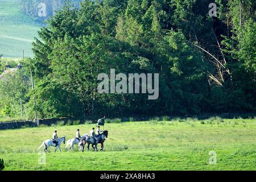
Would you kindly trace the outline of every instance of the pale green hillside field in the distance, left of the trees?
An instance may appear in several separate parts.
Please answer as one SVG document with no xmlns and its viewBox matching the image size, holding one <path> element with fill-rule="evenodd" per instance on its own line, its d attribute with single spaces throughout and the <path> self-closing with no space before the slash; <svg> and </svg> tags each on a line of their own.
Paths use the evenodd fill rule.
<svg viewBox="0 0 256 182">
<path fill-rule="evenodd" d="M 20 12 L 20 0 L 0 0 L 0 55 L 3 57 L 32 57 L 32 42 L 41 27 Z"/>
</svg>

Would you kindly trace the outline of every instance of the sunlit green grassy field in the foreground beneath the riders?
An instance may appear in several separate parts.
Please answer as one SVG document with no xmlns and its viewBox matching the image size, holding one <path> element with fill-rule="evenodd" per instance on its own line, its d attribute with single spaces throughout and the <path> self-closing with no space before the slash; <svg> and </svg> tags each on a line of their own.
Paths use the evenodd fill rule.
<svg viewBox="0 0 256 182">
<path fill-rule="evenodd" d="M 94 125 L 0 131 L 5 170 L 255 170 L 256 119 L 208 119 L 108 123 L 104 152 L 42 154 L 36 148 L 58 130 L 59 137 L 88 133 Z M 209 152 L 217 164 L 209 164 Z"/>
</svg>

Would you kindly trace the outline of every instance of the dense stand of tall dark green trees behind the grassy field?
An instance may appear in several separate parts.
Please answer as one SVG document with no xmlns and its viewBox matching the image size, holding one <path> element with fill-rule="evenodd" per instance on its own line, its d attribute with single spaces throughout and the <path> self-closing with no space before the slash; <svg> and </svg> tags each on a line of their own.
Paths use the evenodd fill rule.
<svg viewBox="0 0 256 182">
<path fill-rule="evenodd" d="M 174 115 L 256 110 L 254 0 L 103 0 L 48 20 L 27 61 L 27 113 Z M 100 94 L 99 73 L 159 73 L 159 99 Z M 29 114 L 28 114 L 29 115 Z M 32 114 L 31 114 L 32 115 Z M 32 117 L 30 115 L 30 117 Z"/>
</svg>

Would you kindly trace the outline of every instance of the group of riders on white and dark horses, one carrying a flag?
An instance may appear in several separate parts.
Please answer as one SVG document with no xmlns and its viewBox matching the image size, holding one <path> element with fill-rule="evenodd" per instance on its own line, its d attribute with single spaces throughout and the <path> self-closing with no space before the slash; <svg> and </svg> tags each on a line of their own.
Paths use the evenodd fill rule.
<svg viewBox="0 0 256 182">
<path fill-rule="evenodd" d="M 98 125 L 100 123 L 104 123 L 105 122 L 105 118 L 102 119 L 98 119 Z M 101 144 L 101 150 L 104 147 L 104 141 L 105 138 L 108 138 L 108 130 L 101 130 L 100 126 L 97 126 L 96 132 L 95 132 L 95 128 L 93 127 L 92 130 L 90 130 L 89 135 L 85 134 L 81 137 L 80 135 L 80 129 L 77 129 L 76 131 L 76 138 L 70 139 L 67 141 L 67 146 L 70 145 L 71 147 L 69 148 L 69 150 L 73 149 L 73 145 L 74 144 L 79 144 L 80 149 L 82 149 L 82 152 L 84 152 L 84 147 L 85 144 L 88 144 L 88 150 L 89 150 L 89 145 L 91 144 L 93 147 L 93 151 L 96 149 L 98 151 L 97 148 L 97 144 L 100 143 Z M 54 131 L 54 133 L 52 134 L 52 139 L 49 140 L 44 140 L 44 142 L 42 143 L 42 145 L 38 148 L 38 150 L 44 146 L 44 151 L 47 151 L 47 149 L 50 146 L 56 147 L 55 148 L 55 152 L 57 150 L 57 148 L 59 148 L 60 152 L 60 144 L 61 142 L 63 142 L 65 144 L 65 137 L 60 137 L 58 138 L 57 136 L 57 130 Z M 66 148 L 67 148 L 66 146 Z"/>
</svg>

